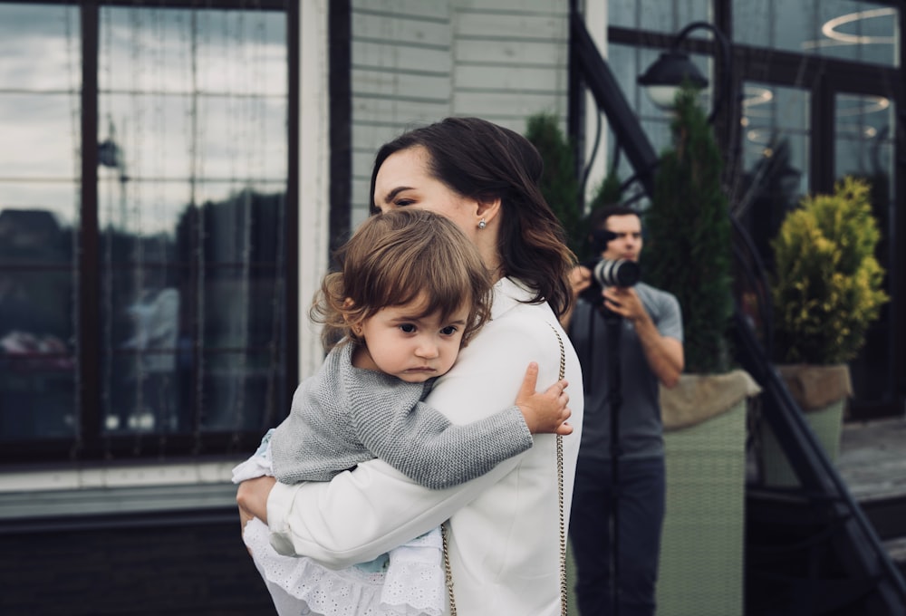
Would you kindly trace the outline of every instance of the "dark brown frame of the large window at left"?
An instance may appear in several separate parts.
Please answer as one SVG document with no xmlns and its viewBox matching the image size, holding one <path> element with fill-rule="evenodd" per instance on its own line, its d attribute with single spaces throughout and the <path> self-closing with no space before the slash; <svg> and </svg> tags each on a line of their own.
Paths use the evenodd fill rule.
<svg viewBox="0 0 906 616">
<path fill-rule="evenodd" d="M 0 0 L 3 4 L 20 4 L 15 0 Z M 69 438 L 36 438 L 11 440 L 0 448 L 0 465 L 34 465 L 63 461 L 110 462 L 217 458 L 234 456 L 254 449 L 262 436 L 262 430 L 229 432 L 206 432 L 167 434 L 160 438 L 156 432 L 110 434 L 103 429 L 104 409 L 101 404 L 101 229 L 99 228 L 98 165 L 99 135 L 98 101 L 99 91 L 99 50 L 100 17 L 102 6 L 136 7 L 134 2 L 124 0 L 79 0 L 65 2 L 44 0 L 45 5 L 67 5 L 78 7 L 81 30 L 82 52 L 81 119 L 80 119 L 80 224 L 78 250 L 73 259 L 77 262 L 79 276 L 79 300 L 76 335 L 78 345 L 78 370 L 76 375 L 79 413 L 74 435 Z M 298 168 L 299 161 L 299 88 L 300 88 L 300 27 L 299 5 L 285 0 L 256 0 L 254 5 L 243 0 L 163 0 L 139 8 L 180 8 L 198 10 L 261 10 L 279 11 L 286 19 L 287 53 L 287 182 L 284 198 L 284 245 L 286 246 L 284 276 L 285 302 L 284 333 L 285 352 L 281 371 L 284 373 L 283 399 L 290 400 L 297 385 L 299 366 L 299 303 L 298 303 Z M 288 410 L 288 404 L 286 405 Z M 190 409 L 198 417 L 198 409 Z M 284 417 L 286 411 L 277 414 L 275 421 Z"/>
</svg>

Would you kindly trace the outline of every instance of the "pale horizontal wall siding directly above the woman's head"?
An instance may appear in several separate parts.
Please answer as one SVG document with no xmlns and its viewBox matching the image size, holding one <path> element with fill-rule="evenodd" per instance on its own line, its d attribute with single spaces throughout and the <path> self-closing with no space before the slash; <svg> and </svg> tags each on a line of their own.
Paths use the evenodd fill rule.
<svg viewBox="0 0 906 616">
<path fill-rule="evenodd" d="M 381 144 L 450 115 L 565 124 L 568 0 L 352 0 L 352 226 Z"/>
</svg>

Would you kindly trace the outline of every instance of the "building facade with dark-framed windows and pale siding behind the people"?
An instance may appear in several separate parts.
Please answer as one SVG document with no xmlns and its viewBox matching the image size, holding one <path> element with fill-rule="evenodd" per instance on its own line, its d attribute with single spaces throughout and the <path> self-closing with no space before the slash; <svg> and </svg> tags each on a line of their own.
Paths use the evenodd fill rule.
<svg viewBox="0 0 906 616">
<path fill-rule="evenodd" d="M 853 416 L 902 414 L 899 3 L 0 0 L 3 541 L 235 533 L 230 468 L 320 364 L 308 303 L 368 215 L 375 151 L 401 131 L 474 115 L 522 132 L 552 113 L 588 197 L 607 170 L 631 178 L 576 79 L 576 13 L 656 150 L 670 118 L 638 75 L 687 24 L 718 29 L 682 46 L 711 83 L 706 104 L 716 83 L 733 92 L 716 127 L 735 214 L 766 257 L 799 197 L 872 179 L 892 301 L 852 364 Z M 254 582 L 248 565 L 236 579 Z M 22 590 L 29 576 L 8 579 L 19 593 L 0 611 L 18 596 L 54 612 Z M 194 613 L 217 592 L 205 589 L 188 592 Z"/>
</svg>

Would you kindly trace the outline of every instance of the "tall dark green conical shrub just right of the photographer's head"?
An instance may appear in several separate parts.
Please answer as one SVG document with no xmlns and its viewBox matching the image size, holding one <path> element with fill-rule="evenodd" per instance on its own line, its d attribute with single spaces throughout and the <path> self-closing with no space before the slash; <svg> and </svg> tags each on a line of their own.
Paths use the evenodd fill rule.
<svg viewBox="0 0 906 616">
<path fill-rule="evenodd" d="M 686 371 L 722 373 L 731 368 L 731 228 L 723 158 L 696 98 L 689 88 L 677 95 L 673 148 L 661 156 L 644 213 L 641 271 L 645 282 L 679 300 Z"/>
</svg>

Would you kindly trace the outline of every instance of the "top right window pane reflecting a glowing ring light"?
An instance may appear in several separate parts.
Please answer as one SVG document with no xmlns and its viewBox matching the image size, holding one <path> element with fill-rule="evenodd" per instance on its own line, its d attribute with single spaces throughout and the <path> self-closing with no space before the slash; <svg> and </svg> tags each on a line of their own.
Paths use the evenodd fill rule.
<svg viewBox="0 0 906 616">
<path fill-rule="evenodd" d="M 733 4 L 737 43 L 899 66 L 898 9 L 862 0 Z"/>
</svg>

